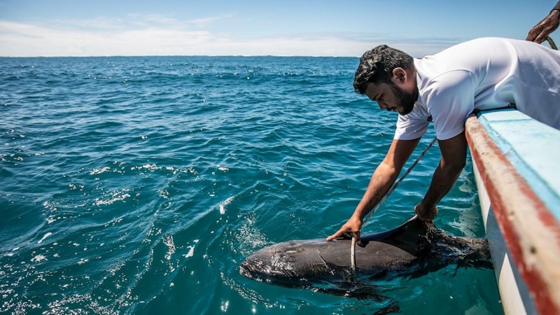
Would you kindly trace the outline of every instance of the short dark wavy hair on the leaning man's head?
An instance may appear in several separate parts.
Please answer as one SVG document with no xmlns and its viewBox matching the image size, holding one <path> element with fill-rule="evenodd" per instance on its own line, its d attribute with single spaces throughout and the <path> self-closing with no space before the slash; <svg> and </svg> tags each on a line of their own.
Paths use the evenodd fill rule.
<svg viewBox="0 0 560 315">
<path fill-rule="evenodd" d="M 391 83 L 393 69 L 407 69 L 409 66 L 412 66 L 412 57 L 388 45 L 379 45 L 367 50 L 360 58 L 360 64 L 354 74 L 354 90 L 364 94 L 367 83 Z"/>
</svg>

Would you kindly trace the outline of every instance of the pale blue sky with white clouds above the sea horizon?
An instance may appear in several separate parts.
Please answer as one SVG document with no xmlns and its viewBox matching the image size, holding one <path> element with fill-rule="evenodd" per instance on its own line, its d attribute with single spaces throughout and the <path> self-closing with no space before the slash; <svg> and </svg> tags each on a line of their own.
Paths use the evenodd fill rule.
<svg viewBox="0 0 560 315">
<path fill-rule="evenodd" d="M 472 38 L 524 39 L 555 3 L 0 0 L 0 56 L 359 57 L 387 44 L 423 57 Z M 560 45 L 560 29 L 552 38 Z"/>
</svg>

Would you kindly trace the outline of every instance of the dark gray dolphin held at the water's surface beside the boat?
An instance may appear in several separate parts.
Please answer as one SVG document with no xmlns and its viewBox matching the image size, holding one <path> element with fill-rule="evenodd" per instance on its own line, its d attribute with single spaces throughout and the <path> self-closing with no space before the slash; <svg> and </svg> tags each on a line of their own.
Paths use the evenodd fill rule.
<svg viewBox="0 0 560 315">
<path fill-rule="evenodd" d="M 449 264 L 491 268 L 485 239 L 453 237 L 414 218 L 394 230 L 365 235 L 356 245 L 351 269 L 351 239 L 310 239 L 274 244 L 241 263 L 244 276 L 289 286 L 351 283 L 358 276 L 386 279 L 420 276 Z M 346 294 L 345 294 L 346 295 Z"/>
</svg>

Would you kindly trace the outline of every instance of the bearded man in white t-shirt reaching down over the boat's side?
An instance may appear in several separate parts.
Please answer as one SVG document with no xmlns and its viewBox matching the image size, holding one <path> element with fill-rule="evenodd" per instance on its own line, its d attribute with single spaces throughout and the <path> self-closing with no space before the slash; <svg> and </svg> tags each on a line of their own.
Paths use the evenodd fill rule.
<svg viewBox="0 0 560 315">
<path fill-rule="evenodd" d="M 398 112 L 398 120 L 391 147 L 358 206 L 328 241 L 352 232 L 360 243 L 365 215 L 393 186 L 430 121 L 441 160 L 414 207 L 426 223 L 465 166 L 465 120 L 473 111 L 514 106 L 560 129 L 560 52 L 531 41 L 478 38 L 419 59 L 379 45 L 360 58 L 353 87 L 380 109 Z"/>
</svg>

